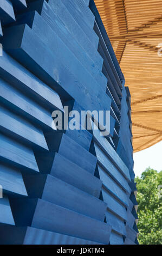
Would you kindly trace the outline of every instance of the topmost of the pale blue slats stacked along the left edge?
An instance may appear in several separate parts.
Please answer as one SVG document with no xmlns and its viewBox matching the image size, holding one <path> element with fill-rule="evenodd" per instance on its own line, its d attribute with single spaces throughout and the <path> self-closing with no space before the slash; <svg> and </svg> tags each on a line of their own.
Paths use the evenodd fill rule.
<svg viewBox="0 0 162 256">
<path fill-rule="evenodd" d="M 14 87 L 22 88 L 23 92 L 30 97 L 33 95 L 34 99 L 44 102 L 44 105 L 48 104 L 53 110 L 56 108 L 63 111 L 60 96 L 5 51 L 3 51 L 3 58 L 0 58 L 0 75 Z"/>
</svg>

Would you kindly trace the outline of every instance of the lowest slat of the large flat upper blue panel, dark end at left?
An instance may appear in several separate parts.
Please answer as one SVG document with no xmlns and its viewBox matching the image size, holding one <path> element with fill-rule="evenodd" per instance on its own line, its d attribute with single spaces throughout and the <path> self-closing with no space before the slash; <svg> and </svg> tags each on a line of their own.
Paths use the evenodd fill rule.
<svg viewBox="0 0 162 256">
<path fill-rule="evenodd" d="M 68 94 L 74 97 L 83 108 L 90 111 L 94 109 L 101 110 L 100 101 L 103 103 L 102 110 L 110 109 L 111 99 L 109 99 L 108 95 L 103 93 L 103 90 L 99 87 L 95 88 L 96 86 L 91 87 L 90 92 L 87 91 L 87 87 L 77 81 L 77 78 L 61 63 L 61 60 L 49 51 L 47 46 L 41 42 L 41 39 L 27 25 L 7 28 L 4 33 L 5 48 L 8 49 L 12 56 L 15 56 L 25 66 L 28 66 L 28 69 L 33 70 L 34 74 L 39 78 L 52 83 L 56 92 L 60 91 L 60 89 L 67 90 Z M 7 39 L 8 36 L 14 36 L 12 45 Z M 29 37 L 33 38 L 33 40 L 29 41 Z M 35 44 L 38 44 L 39 47 L 35 48 Z M 21 48 L 18 48 L 19 45 L 21 45 Z M 41 57 L 40 51 L 42 53 Z M 50 63 L 53 63 L 53 65 L 50 65 Z M 57 68 L 53 69 L 54 66 Z M 63 88 L 60 88 L 59 84 Z M 85 90 L 87 92 L 86 99 Z M 99 94 L 100 99 L 98 97 Z"/>
</svg>

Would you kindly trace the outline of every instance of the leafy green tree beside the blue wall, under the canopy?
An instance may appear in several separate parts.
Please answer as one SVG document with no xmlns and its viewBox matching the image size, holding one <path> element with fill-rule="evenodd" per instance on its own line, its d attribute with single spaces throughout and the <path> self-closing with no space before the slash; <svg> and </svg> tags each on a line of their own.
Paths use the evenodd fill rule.
<svg viewBox="0 0 162 256">
<path fill-rule="evenodd" d="M 150 167 L 142 173 L 137 182 L 138 230 L 139 244 L 159 245 L 162 243 L 162 171 L 157 172 Z"/>
</svg>

